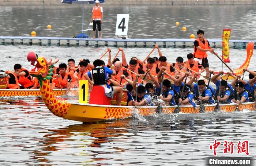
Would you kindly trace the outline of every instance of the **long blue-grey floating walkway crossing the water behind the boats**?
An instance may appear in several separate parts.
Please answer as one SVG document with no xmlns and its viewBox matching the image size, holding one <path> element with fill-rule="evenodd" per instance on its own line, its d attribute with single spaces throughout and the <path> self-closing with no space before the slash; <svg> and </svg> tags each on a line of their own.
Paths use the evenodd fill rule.
<svg viewBox="0 0 256 166">
<path fill-rule="evenodd" d="M 154 47 L 162 48 L 193 47 L 195 39 L 91 39 L 91 38 L 59 38 L 59 37 L 30 37 L 30 36 L 0 36 L 1 45 L 39 45 L 39 46 L 114 46 L 114 47 Z M 222 39 L 208 39 L 212 48 L 222 48 Z M 248 42 L 256 40 L 229 40 L 233 49 L 246 49 Z M 254 46 L 256 49 L 256 46 Z"/>
</svg>

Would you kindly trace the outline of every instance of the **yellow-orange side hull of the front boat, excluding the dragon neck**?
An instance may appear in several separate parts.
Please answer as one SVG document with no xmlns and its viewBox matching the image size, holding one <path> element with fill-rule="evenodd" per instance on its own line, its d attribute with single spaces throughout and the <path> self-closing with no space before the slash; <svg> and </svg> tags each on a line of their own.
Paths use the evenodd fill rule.
<svg viewBox="0 0 256 166">
<path fill-rule="evenodd" d="M 95 122 L 105 120 L 116 120 L 132 117 L 133 114 L 138 113 L 142 116 L 152 116 L 156 113 L 157 106 L 154 107 L 131 107 L 131 106 L 113 106 L 113 105 L 94 105 L 94 104 L 80 104 L 70 103 L 70 107 L 64 119 Z M 162 113 L 172 114 L 177 106 L 163 106 Z M 215 105 L 205 105 L 206 112 L 213 112 Z M 233 112 L 236 110 L 236 104 L 220 104 L 220 111 Z M 255 110 L 255 103 L 243 103 L 239 105 L 242 110 Z M 192 106 L 180 106 L 181 113 L 199 113 L 199 106 L 195 109 Z"/>
</svg>

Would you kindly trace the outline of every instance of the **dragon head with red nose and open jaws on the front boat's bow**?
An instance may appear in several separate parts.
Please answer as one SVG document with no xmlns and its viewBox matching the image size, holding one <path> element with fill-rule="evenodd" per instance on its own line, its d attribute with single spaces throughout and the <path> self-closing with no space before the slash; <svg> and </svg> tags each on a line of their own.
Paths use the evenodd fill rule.
<svg viewBox="0 0 256 166">
<path fill-rule="evenodd" d="M 35 66 L 29 73 L 31 76 L 38 78 L 40 85 L 42 85 L 42 81 L 52 79 L 54 70 L 52 59 L 47 62 L 45 57 L 39 57 L 35 52 L 31 51 L 27 54 L 27 60 L 30 65 Z"/>
</svg>

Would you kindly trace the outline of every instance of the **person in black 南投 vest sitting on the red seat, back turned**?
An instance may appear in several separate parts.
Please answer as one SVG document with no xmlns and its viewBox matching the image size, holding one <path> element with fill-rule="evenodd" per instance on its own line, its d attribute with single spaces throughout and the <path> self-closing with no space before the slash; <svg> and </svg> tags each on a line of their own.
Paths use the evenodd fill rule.
<svg viewBox="0 0 256 166">
<path fill-rule="evenodd" d="M 112 86 L 110 88 L 110 86 L 107 84 L 108 74 L 112 76 L 116 75 L 114 66 L 112 65 L 109 69 L 108 67 L 103 66 L 103 63 L 100 59 L 96 59 L 93 62 L 93 65 L 95 68 L 84 74 L 84 77 L 90 83 L 90 90 L 92 90 L 93 85 L 103 86 L 105 89 L 106 97 L 113 99 L 114 94 L 117 93 L 117 105 L 121 105 L 123 89 L 120 86 Z"/>
</svg>

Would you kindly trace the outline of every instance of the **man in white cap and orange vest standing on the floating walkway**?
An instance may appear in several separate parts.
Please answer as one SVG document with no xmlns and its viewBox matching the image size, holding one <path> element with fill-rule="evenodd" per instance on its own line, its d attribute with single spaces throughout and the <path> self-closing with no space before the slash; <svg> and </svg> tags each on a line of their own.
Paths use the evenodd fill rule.
<svg viewBox="0 0 256 166">
<path fill-rule="evenodd" d="M 95 1 L 95 6 L 93 7 L 93 16 L 91 17 L 91 23 L 93 23 L 93 39 L 95 39 L 96 34 L 96 24 L 99 30 L 99 39 L 101 39 L 101 23 L 103 22 L 103 9 L 99 5 L 99 1 Z"/>
</svg>

